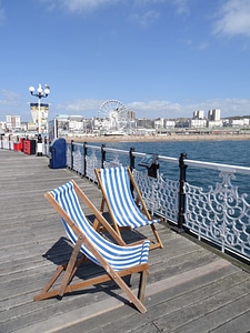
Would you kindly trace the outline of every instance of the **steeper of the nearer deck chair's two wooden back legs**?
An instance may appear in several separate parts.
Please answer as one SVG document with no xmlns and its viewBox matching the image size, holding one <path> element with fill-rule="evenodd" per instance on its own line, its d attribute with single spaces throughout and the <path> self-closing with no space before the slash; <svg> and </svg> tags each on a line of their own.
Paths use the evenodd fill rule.
<svg viewBox="0 0 250 333">
<path fill-rule="evenodd" d="M 69 261 L 69 263 L 68 263 L 68 265 L 67 265 L 66 273 L 64 273 L 64 275 L 63 275 L 61 285 L 60 285 L 60 287 L 59 287 L 58 295 L 59 295 L 60 297 L 63 296 L 64 290 L 66 290 L 68 283 L 69 283 L 69 281 L 70 281 L 70 280 L 72 279 L 72 276 L 73 276 L 72 272 L 73 272 L 73 269 L 74 269 L 74 266 L 76 266 L 76 262 L 77 262 L 78 254 L 79 254 L 79 252 L 80 252 L 80 249 L 81 249 L 81 244 L 82 244 L 82 243 L 83 243 L 83 240 L 82 240 L 82 236 L 80 235 L 80 236 L 78 238 L 78 241 L 77 241 L 77 243 L 76 243 L 76 246 L 73 248 L 73 252 L 72 252 L 72 254 L 71 254 L 71 256 L 70 256 L 70 261 Z"/>
</svg>

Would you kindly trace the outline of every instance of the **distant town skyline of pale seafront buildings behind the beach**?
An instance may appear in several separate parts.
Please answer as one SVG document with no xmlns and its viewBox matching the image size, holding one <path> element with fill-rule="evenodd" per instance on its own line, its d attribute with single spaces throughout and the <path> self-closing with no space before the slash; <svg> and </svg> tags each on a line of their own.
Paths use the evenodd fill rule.
<svg viewBox="0 0 250 333">
<path fill-rule="evenodd" d="M 58 114 L 52 123 L 56 122 L 56 127 L 59 135 L 103 135 L 110 128 L 112 120 L 107 117 L 100 119 L 93 117 L 86 119 L 82 115 L 69 115 Z M 51 121 L 50 121 L 51 122 Z M 249 118 L 234 117 L 230 119 L 221 119 L 220 109 L 211 109 L 208 111 L 208 118 L 204 117 L 203 110 L 193 111 L 192 118 L 179 118 L 179 119 L 167 119 L 167 118 L 136 118 L 134 111 L 128 111 L 128 118 L 126 124 L 123 123 L 120 131 L 127 134 L 156 134 L 156 133 L 168 133 L 174 130 L 200 130 L 211 131 L 213 129 L 229 130 L 229 128 L 247 129 L 250 127 Z M 37 124 L 32 121 L 21 122 L 20 115 L 7 115 L 6 121 L 0 122 L 0 132 L 28 132 L 36 133 Z M 46 134 L 46 133 L 44 133 Z"/>
</svg>

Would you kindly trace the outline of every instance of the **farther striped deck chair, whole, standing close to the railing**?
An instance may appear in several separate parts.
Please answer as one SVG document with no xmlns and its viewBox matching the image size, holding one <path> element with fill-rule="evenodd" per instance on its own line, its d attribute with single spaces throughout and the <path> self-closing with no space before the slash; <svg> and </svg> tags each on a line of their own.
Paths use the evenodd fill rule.
<svg viewBox="0 0 250 333">
<path fill-rule="evenodd" d="M 150 250 L 163 248 L 154 226 L 154 223 L 161 222 L 161 219 L 152 220 L 130 168 L 118 167 L 96 169 L 94 171 L 102 191 L 100 211 L 103 213 L 104 206 L 107 205 L 116 232 L 121 236 L 120 230 L 122 228 L 129 226 L 130 229 L 136 229 L 150 225 L 156 239 L 154 242 L 151 241 Z M 131 185 L 136 191 L 137 203 L 141 205 L 142 212 L 132 196 Z"/>
</svg>

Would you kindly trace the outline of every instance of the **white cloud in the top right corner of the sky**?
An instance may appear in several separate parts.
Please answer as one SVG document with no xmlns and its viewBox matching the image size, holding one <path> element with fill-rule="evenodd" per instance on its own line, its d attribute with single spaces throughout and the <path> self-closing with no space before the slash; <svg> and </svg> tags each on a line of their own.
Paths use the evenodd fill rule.
<svg viewBox="0 0 250 333">
<path fill-rule="evenodd" d="M 250 1 L 224 1 L 214 23 L 214 33 L 227 37 L 239 34 L 250 37 Z"/>
</svg>

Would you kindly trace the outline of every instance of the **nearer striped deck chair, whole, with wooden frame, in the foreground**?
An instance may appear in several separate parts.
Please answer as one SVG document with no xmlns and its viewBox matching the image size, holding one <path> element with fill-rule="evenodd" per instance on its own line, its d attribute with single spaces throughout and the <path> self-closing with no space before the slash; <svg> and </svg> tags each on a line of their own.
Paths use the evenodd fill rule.
<svg viewBox="0 0 250 333">
<path fill-rule="evenodd" d="M 74 181 L 70 181 L 51 192 L 47 192 L 44 195 L 60 214 L 66 233 L 74 244 L 74 248 L 69 262 L 58 266 L 53 278 L 43 287 L 41 293 L 34 296 L 34 300 L 38 301 L 53 296 L 62 297 L 64 293 L 113 280 L 127 294 L 130 302 L 141 313 L 144 313 L 147 311 L 143 305 L 143 299 L 149 268 L 149 241 L 137 242 L 131 246 L 124 245 L 120 238 L 117 236 L 112 226 L 104 220 L 102 214 L 94 208 Z M 108 229 L 110 235 L 120 242 L 120 244 L 116 244 L 108 238 L 103 238 L 92 228 L 81 209 L 79 198 L 83 200 L 96 215 L 96 219 Z M 79 253 L 81 254 L 80 259 Z M 103 274 L 73 283 L 72 280 L 77 270 L 88 260 L 101 266 Z M 54 282 L 62 272 L 64 274 L 61 279 L 61 284 L 57 287 L 57 285 L 54 286 Z M 122 276 L 130 276 L 132 273 L 140 273 L 138 296 L 133 294 L 122 279 Z"/>
</svg>

